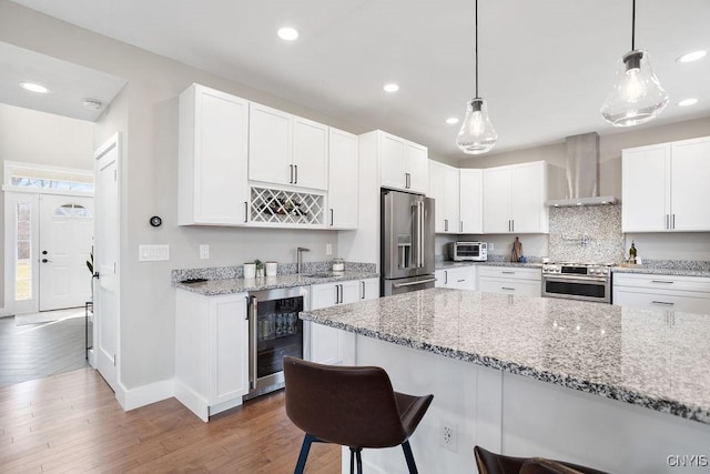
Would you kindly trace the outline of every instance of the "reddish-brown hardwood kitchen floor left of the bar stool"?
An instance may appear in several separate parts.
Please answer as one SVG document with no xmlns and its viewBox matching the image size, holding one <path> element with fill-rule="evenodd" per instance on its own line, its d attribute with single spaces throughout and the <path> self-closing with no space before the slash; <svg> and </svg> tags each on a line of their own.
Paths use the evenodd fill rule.
<svg viewBox="0 0 710 474">
<path fill-rule="evenodd" d="M 302 438 L 283 391 L 203 423 L 174 399 L 123 412 L 92 369 L 0 389 L 2 473 L 292 473 Z M 306 473 L 339 472 L 315 443 Z"/>
</svg>

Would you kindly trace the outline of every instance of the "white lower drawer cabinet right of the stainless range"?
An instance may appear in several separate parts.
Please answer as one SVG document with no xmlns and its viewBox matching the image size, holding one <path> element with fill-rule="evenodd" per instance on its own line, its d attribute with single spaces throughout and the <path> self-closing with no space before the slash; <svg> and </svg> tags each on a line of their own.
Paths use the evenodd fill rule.
<svg viewBox="0 0 710 474">
<path fill-rule="evenodd" d="M 611 297 L 618 306 L 710 314 L 710 279 L 615 273 Z"/>
</svg>

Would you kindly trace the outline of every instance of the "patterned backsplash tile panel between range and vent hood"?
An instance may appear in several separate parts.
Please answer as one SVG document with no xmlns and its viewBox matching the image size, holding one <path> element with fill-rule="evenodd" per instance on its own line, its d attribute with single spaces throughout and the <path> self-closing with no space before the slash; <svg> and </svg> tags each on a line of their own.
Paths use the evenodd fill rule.
<svg viewBox="0 0 710 474">
<path fill-rule="evenodd" d="M 549 256 L 555 262 L 620 263 L 620 205 L 550 209 Z"/>
</svg>

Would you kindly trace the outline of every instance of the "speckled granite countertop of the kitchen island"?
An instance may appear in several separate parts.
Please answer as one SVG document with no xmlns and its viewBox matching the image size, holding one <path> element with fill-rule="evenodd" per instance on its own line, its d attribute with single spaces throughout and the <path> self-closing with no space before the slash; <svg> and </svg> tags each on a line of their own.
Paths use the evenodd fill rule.
<svg viewBox="0 0 710 474">
<path fill-rule="evenodd" d="M 432 289 L 301 317 L 710 424 L 710 319 Z"/>
</svg>

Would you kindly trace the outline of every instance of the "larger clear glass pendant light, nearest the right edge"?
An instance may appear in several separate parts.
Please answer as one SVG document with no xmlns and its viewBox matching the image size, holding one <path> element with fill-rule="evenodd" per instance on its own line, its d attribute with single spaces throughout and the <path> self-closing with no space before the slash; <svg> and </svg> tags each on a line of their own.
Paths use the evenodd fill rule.
<svg viewBox="0 0 710 474">
<path fill-rule="evenodd" d="M 632 1 L 631 51 L 618 61 L 613 89 L 601 107 L 605 120 L 613 127 L 648 122 L 668 105 L 668 92 L 651 70 L 648 51 L 636 49 L 636 0 Z"/>
</svg>

